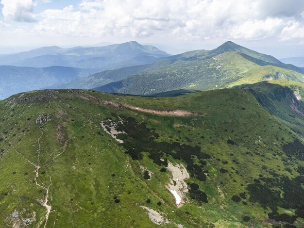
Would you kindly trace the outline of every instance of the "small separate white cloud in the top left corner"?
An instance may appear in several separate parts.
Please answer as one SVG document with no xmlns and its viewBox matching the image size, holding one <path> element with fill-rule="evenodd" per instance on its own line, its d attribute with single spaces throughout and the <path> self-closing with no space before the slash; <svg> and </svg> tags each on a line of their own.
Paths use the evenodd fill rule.
<svg viewBox="0 0 304 228">
<path fill-rule="evenodd" d="M 6 20 L 18 22 L 35 22 L 33 16 L 34 2 L 32 0 L 1 0 L 2 14 Z"/>
</svg>

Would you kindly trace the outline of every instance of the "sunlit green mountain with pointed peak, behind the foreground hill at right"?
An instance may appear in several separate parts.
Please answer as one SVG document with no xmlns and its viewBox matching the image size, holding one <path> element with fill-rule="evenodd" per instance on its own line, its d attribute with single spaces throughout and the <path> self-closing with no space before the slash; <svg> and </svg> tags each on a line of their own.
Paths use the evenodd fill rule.
<svg viewBox="0 0 304 228">
<path fill-rule="evenodd" d="M 162 58 L 140 73 L 96 89 L 152 95 L 180 89 L 226 88 L 277 79 L 304 82 L 304 71 L 229 41 L 213 50 L 188 51 Z"/>
</svg>

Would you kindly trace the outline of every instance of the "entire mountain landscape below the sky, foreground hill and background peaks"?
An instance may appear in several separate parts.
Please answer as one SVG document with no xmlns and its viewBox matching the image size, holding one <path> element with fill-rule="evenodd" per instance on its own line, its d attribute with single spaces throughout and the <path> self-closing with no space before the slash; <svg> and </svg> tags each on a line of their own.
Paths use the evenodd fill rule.
<svg viewBox="0 0 304 228">
<path fill-rule="evenodd" d="M 303 68 L 233 42 L 0 62 L 0 227 L 304 227 Z"/>
</svg>

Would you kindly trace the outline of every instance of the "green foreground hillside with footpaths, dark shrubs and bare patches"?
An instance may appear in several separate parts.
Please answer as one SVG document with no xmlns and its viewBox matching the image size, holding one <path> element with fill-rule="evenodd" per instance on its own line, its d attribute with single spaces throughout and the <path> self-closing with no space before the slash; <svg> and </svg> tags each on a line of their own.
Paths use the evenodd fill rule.
<svg viewBox="0 0 304 228">
<path fill-rule="evenodd" d="M 304 226 L 304 145 L 248 90 L 45 90 L 0 116 L 1 227 Z"/>
</svg>

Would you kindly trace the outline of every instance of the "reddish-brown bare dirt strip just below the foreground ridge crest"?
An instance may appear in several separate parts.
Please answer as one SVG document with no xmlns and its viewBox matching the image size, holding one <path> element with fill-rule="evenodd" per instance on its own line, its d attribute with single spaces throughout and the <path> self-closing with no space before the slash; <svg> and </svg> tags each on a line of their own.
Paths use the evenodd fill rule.
<svg viewBox="0 0 304 228">
<path fill-rule="evenodd" d="M 155 114 L 155 115 L 167 115 L 167 116 L 189 116 L 189 115 L 202 115 L 199 113 L 193 113 L 193 112 L 188 112 L 185 110 L 166 110 L 166 111 L 160 111 L 160 110 L 153 110 L 153 109 L 145 109 L 145 108 L 141 108 L 141 107 L 136 107 L 133 105 L 128 105 L 128 104 L 122 104 L 123 107 L 128 108 L 128 109 L 132 109 L 132 110 L 136 110 L 139 112 L 143 112 L 143 113 L 151 113 L 151 114 Z"/>
</svg>

